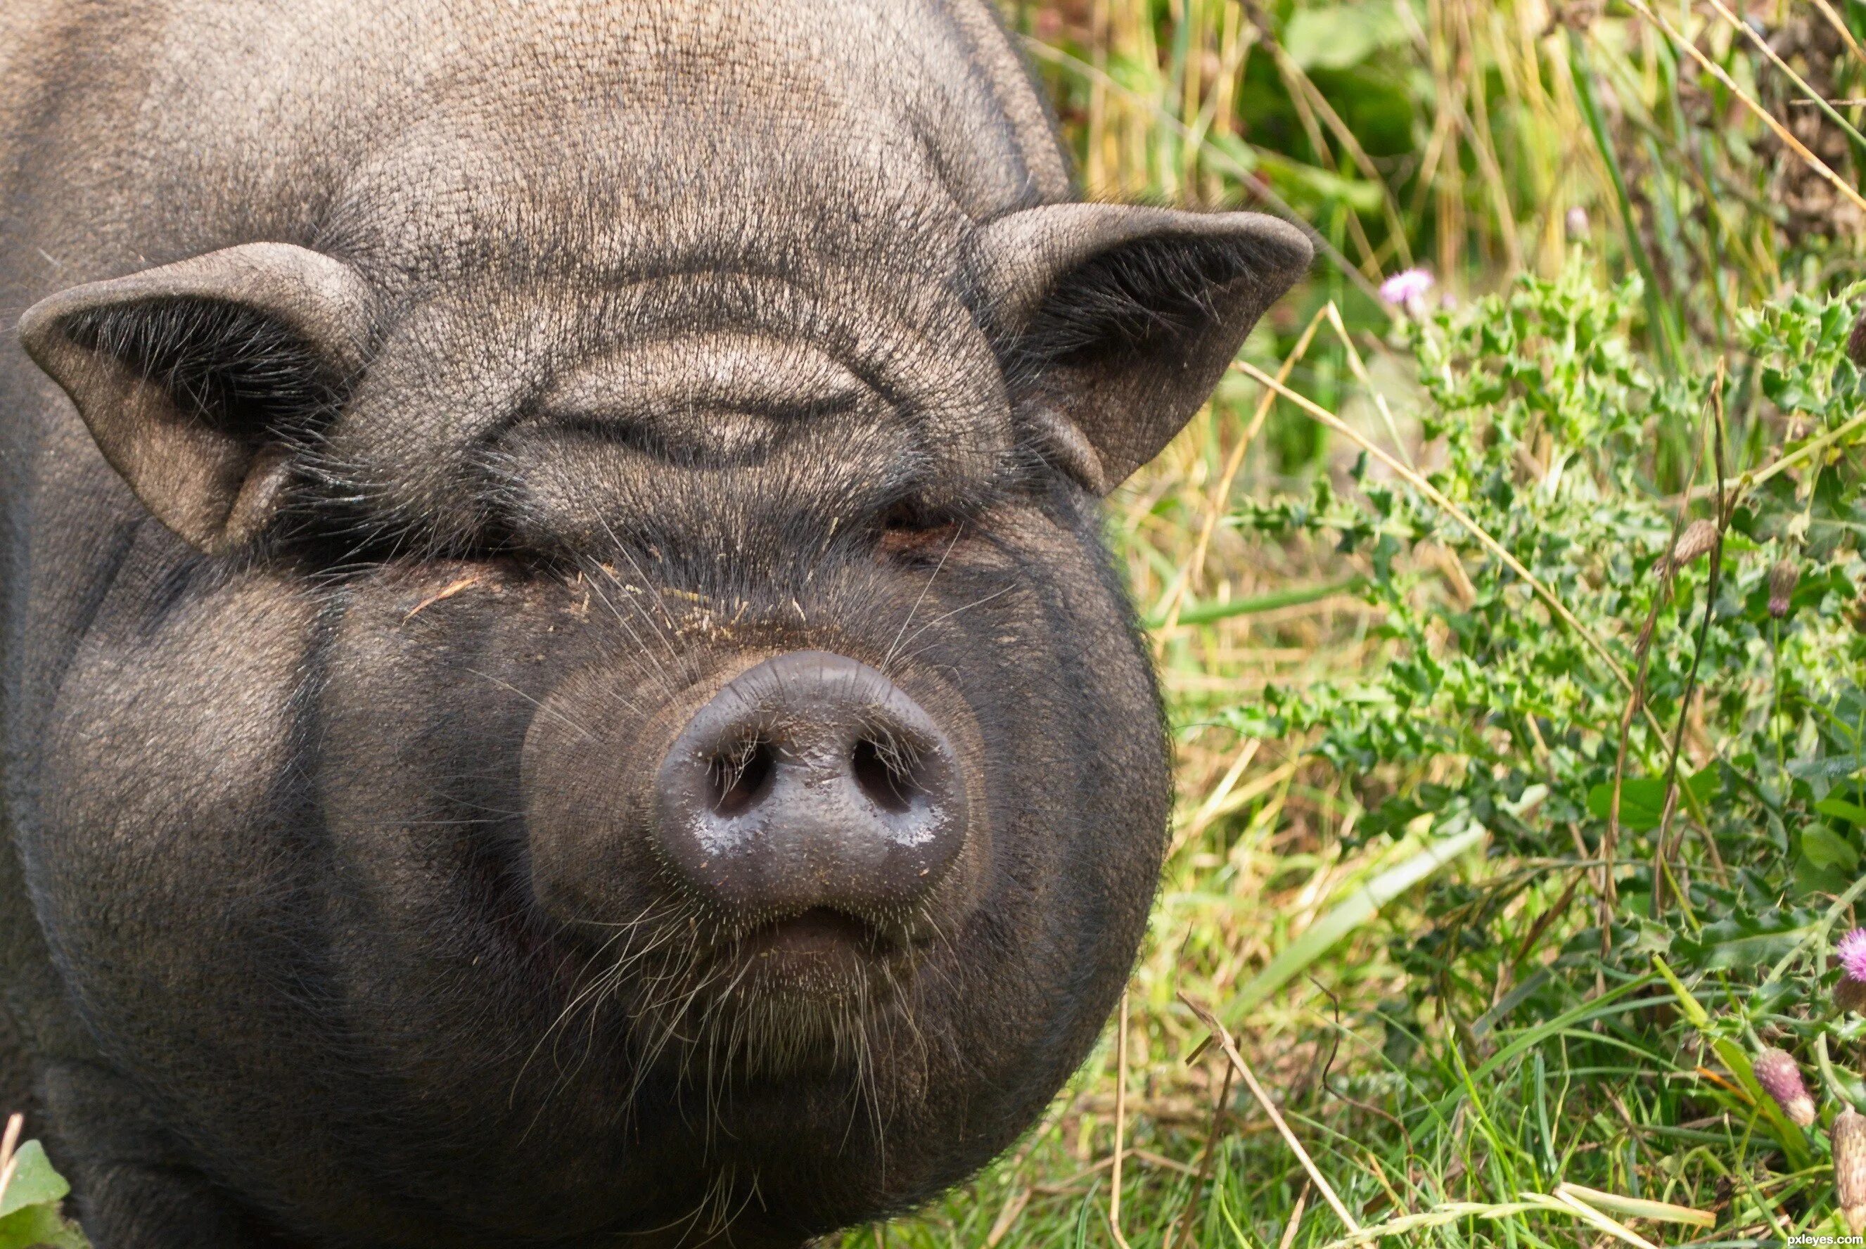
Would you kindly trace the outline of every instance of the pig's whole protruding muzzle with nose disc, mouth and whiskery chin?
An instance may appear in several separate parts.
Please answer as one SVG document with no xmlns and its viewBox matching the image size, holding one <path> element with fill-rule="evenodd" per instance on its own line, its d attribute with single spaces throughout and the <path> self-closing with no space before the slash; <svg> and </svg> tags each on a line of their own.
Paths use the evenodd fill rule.
<svg viewBox="0 0 1866 1249">
<path fill-rule="evenodd" d="M 573 997 L 612 997 L 651 1055 L 862 1055 L 976 904 L 974 717 L 935 676 L 834 646 L 733 653 L 636 726 L 593 728 L 642 698 L 599 668 L 541 702 L 532 891 L 578 952 Z"/>
</svg>

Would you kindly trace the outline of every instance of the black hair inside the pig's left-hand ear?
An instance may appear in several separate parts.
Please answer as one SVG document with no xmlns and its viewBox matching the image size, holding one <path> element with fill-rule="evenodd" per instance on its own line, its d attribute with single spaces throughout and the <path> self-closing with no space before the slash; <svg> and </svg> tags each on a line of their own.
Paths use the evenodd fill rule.
<svg viewBox="0 0 1866 1249">
<path fill-rule="evenodd" d="M 289 327 L 246 304 L 146 299 L 75 316 L 67 336 L 168 390 L 175 409 L 243 444 L 289 441 L 341 381 Z"/>
</svg>

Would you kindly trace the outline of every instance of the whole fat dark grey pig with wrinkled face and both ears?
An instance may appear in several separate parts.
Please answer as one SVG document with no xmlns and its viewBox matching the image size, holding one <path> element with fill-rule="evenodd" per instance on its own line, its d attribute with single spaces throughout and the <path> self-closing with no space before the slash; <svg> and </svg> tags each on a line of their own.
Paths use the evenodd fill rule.
<svg viewBox="0 0 1866 1249">
<path fill-rule="evenodd" d="M 1097 500 L 1308 263 L 983 0 L 0 4 L 7 1105 L 99 1249 L 795 1247 L 1163 853 Z"/>
</svg>

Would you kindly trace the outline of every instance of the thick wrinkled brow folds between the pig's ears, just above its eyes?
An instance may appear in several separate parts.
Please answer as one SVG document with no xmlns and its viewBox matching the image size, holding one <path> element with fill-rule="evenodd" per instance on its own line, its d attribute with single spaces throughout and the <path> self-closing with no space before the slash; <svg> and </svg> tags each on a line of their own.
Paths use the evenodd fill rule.
<svg viewBox="0 0 1866 1249">
<path fill-rule="evenodd" d="M 1011 433 L 950 289 L 709 269 L 442 289 L 390 327 L 328 448 L 358 495 L 444 536 L 718 543 L 963 504 Z"/>
</svg>

